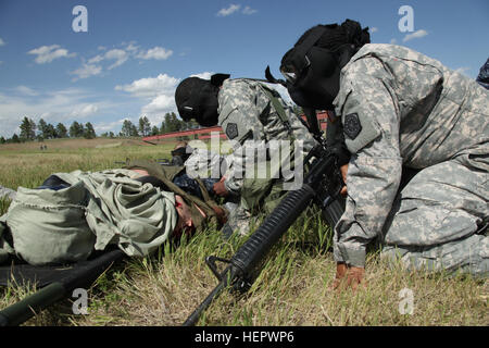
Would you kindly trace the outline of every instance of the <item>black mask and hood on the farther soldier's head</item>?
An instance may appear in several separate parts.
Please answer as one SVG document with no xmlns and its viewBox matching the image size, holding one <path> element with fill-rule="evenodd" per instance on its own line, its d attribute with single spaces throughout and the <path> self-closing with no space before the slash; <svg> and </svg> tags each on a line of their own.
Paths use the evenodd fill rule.
<svg viewBox="0 0 489 348">
<path fill-rule="evenodd" d="M 211 127 L 217 124 L 217 94 L 227 74 L 215 74 L 211 79 L 188 77 L 175 91 L 175 102 L 180 117 L 188 122 L 195 119 L 201 126 Z"/>
</svg>

